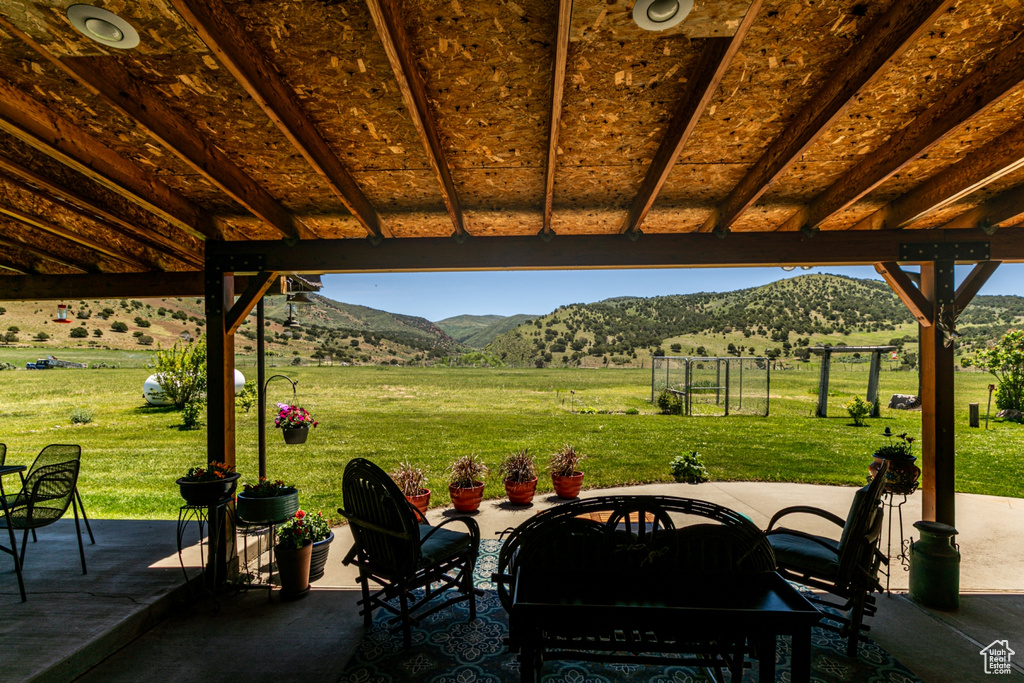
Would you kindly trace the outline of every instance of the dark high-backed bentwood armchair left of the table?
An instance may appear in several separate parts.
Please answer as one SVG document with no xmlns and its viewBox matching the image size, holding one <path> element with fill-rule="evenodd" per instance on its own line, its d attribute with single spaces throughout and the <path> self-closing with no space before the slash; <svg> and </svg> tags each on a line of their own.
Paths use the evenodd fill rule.
<svg viewBox="0 0 1024 683">
<path fill-rule="evenodd" d="M 480 546 L 480 529 L 467 517 L 453 517 L 437 526 L 419 523 L 423 517 L 391 477 L 369 460 L 349 461 L 342 476 L 344 508 L 338 512 L 351 523 L 355 540 L 345 564 L 359 568 L 359 600 L 364 624 L 370 626 L 374 609 L 395 614 L 406 647 L 412 644 L 412 626 L 439 609 L 469 601 L 469 617 L 476 618 L 473 565 Z M 444 528 L 465 524 L 467 531 Z M 382 588 L 371 593 L 370 581 Z M 414 594 L 421 590 L 422 595 Z M 449 589 L 458 595 L 437 601 Z M 397 600 L 398 605 L 393 602 Z"/>
</svg>

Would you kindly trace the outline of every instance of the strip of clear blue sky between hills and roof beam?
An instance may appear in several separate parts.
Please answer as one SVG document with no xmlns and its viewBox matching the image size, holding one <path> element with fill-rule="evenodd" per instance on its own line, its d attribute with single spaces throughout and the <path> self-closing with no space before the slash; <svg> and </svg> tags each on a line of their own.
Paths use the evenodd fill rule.
<svg viewBox="0 0 1024 683">
<path fill-rule="evenodd" d="M 970 271 L 957 267 L 957 283 Z M 662 296 L 729 292 L 807 272 L 834 272 L 881 280 L 874 268 L 672 268 L 643 270 L 513 270 L 492 272 L 411 272 L 324 275 L 323 294 L 336 301 L 392 313 L 440 321 L 470 313 L 550 313 L 569 303 L 615 296 Z M 1024 264 L 1004 264 L 982 294 L 1024 296 Z"/>
</svg>

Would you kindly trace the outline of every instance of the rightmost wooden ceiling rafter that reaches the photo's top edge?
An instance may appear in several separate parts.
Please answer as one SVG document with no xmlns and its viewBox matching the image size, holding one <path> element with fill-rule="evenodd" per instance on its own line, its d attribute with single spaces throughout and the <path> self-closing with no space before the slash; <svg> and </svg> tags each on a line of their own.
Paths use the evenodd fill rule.
<svg viewBox="0 0 1024 683">
<path fill-rule="evenodd" d="M 952 0 L 894 2 L 849 54 L 827 70 L 822 87 L 771 141 L 725 201 L 708 217 L 700 231 L 728 230 L 771 183 L 831 127 L 858 93 L 878 79 L 952 4 Z"/>
</svg>

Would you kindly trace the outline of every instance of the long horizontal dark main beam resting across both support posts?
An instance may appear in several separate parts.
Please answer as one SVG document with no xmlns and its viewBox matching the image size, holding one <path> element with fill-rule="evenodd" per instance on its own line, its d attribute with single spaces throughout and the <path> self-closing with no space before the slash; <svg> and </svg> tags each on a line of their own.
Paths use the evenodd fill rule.
<svg viewBox="0 0 1024 683">
<path fill-rule="evenodd" d="M 673 268 L 781 265 L 871 265 L 898 261 L 901 245 L 985 243 L 990 258 L 1024 262 L 1024 228 L 981 230 L 733 232 L 644 234 L 632 242 L 620 234 L 559 236 L 545 243 L 534 236 L 487 237 L 457 244 L 447 238 L 302 241 L 282 248 L 273 242 L 210 243 L 208 263 L 225 271 L 258 255 L 259 269 L 282 272 L 416 272 L 443 270 L 531 270 L 555 268 Z M 975 259 L 976 260 L 976 259 Z M 974 260 L 972 261 L 974 262 Z"/>
</svg>

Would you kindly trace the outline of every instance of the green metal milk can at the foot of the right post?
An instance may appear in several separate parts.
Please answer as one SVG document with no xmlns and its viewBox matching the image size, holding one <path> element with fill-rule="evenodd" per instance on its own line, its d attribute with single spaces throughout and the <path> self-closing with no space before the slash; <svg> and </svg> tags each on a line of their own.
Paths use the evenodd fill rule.
<svg viewBox="0 0 1024 683">
<path fill-rule="evenodd" d="M 921 540 L 910 544 L 910 597 L 936 609 L 959 607 L 959 548 L 949 524 L 919 521 Z"/>
</svg>

